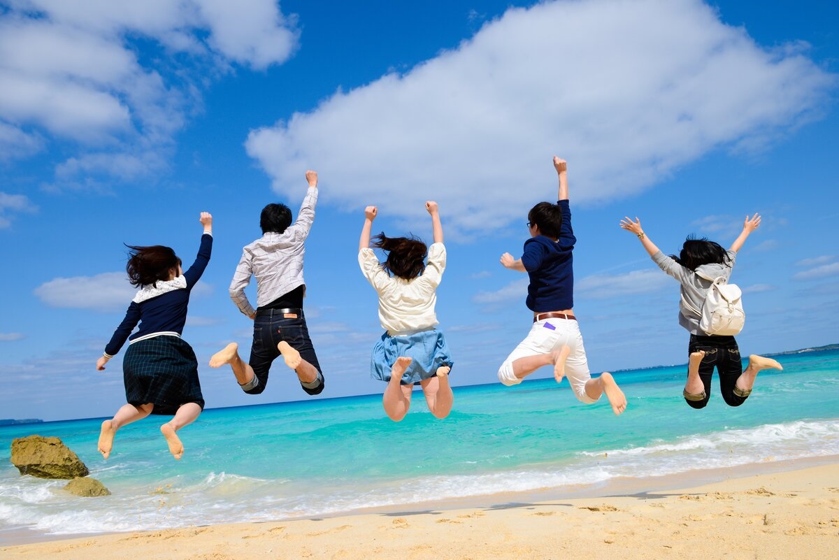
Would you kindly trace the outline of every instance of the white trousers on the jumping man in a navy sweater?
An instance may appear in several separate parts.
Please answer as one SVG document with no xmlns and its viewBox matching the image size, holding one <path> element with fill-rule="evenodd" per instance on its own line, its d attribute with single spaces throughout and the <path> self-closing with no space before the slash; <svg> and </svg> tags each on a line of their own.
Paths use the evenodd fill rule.
<svg viewBox="0 0 839 560">
<path fill-rule="evenodd" d="M 550 354 L 555 350 L 560 350 L 563 345 L 571 349 L 568 360 L 565 361 L 565 377 L 568 378 L 574 395 L 578 401 L 586 404 L 597 402 L 597 399 L 586 395 L 586 381 L 591 379 L 591 373 L 588 370 L 586 349 L 582 345 L 580 325 L 576 320 L 542 319 L 536 321 L 527 338 L 516 346 L 515 350 L 507 356 L 507 360 L 504 360 L 498 370 L 498 380 L 504 385 L 518 385 L 522 380 L 513 373 L 513 361 L 531 355 Z"/>
</svg>

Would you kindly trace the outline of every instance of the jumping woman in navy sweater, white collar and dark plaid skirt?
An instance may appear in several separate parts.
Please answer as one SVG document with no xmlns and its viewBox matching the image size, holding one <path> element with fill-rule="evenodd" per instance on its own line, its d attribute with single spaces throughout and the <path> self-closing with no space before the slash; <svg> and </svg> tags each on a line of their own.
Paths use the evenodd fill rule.
<svg viewBox="0 0 839 560">
<path fill-rule="evenodd" d="M 190 293 L 210 262 L 212 251 L 212 216 L 201 212 L 200 221 L 204 227 L 201 246 L 186 272 L 170 247 L 128 246 L 131 252 L 126 271 L 132 285 L 140 289 L 105 346 L 105 353 L 96 360 L 96 370 L 104 371 L 108 360 L 130 339 L 122 360 L 127 403 L 102 423 L 99 434 L 99 453 L 105 459 L 111 454 L 117 430 L 149 414 L 175 415 L 160 431 L 169 453 L 180 459 L 184 446 L 176 432 L 195 421 L 204 409 L 195 352 L 180 338 Z M 138 323 L 138 331 L 131 334 Z"/>
</svg>

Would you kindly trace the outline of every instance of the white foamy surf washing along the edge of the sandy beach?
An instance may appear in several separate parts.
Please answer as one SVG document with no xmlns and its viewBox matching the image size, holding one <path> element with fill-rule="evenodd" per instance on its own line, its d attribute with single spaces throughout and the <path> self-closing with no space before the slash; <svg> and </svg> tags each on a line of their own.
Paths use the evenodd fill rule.
<svg viewBox="0 0 839 560">
<path fill-rule="evenodd" d="M 65 481 L 0 477 L 0 527 L 31 526 L 51 534 L 136 531 L 178 526 L 321 516 L 377 506 L 411 509 L 422 502 L 578 489 L 616 477 L 643 478 L 691 469 L 839 453 L 839 421 L 797 421 L 696 433 L 625 449 L 581 452 L 561 463 L 475 474 L 420 475 L 410 480 L 347 477 L 265 479 L 225 471 L 159 485 L 122 480 L 114 495 L 80 501 Z"/>
</svg>

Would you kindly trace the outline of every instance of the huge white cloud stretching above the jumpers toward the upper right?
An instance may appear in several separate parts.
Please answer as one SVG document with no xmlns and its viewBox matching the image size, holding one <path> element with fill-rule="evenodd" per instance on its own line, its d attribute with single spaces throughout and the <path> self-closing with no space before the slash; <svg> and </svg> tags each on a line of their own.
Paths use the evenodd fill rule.
<svg viewBox="0 0 839 560">
<path fill-rule="evenodd" d="M 811 117 L 835 76 L 787 46 L 764 49 L 699 0 L 538 3 L 246 147 L 279 193 L 313 168 L 326 189 L 340 180 L 328 192 L 344 207 L 420 220 L 432 198 L 447 232 L 496 229 L 553 199 L 554 153 L 572 200 L 603 200 Z"/>
</svg>

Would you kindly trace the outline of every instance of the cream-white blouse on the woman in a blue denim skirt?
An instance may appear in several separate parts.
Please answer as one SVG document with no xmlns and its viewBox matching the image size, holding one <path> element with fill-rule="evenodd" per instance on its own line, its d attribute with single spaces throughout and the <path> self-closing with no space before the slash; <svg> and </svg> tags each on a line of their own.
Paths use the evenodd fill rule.
<svg viewBox="0 0 839 560">
<path fill-rule="evenodd" d="M 378 293 L 378 319 L 388 334 L 411 334 L 437 324 L 437 286 L 446 269 L 446 246 L 442 243 L 429 247 L 425 271 L 411 280 L 390 276 L 370 248 L 358 251 L 358 265 Z"/>
</svg>

